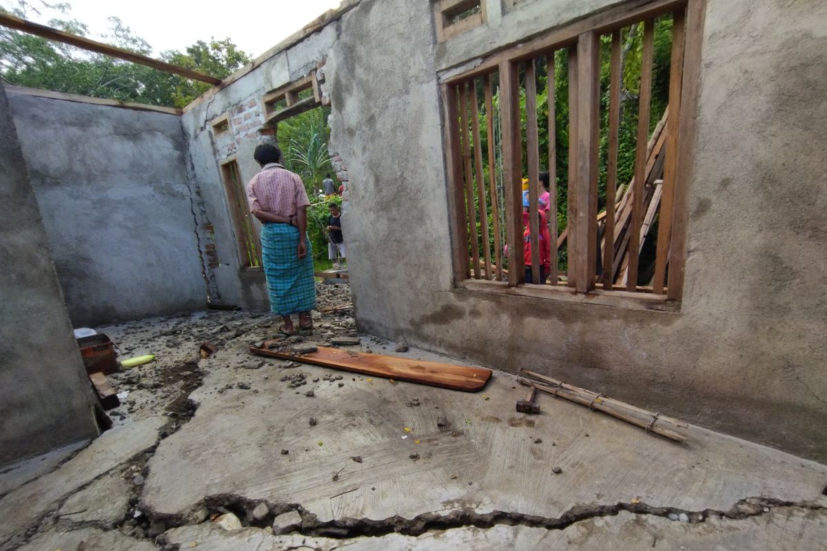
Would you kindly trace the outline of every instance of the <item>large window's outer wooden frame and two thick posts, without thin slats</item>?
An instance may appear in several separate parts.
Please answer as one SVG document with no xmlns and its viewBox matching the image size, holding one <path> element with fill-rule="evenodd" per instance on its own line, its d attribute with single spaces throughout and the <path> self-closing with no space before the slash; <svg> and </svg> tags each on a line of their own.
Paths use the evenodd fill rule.
<svg viewBox="0 0 827 551">
<path fill-rule="evenodd" d="M 657 0 L 655 2 L 634 2 L 609 9 L 569 26 L 549 31 L 543 36 L 529 40 L 507 50 L 486 55 L 474 69 L 461 74 L 452 74 L 441 83 L 441 97 L 445 120 L 445 150 L 447 179 L 452 187 L 448 192 L 448 206 L 451 211 L 452 253 L 454 259 L 455 286 L 474 291 L 500 292 L 518 296 L 552 298 L 567 302 L 624 306 L 633 309 L 675 311 L 676 301 L 682 298 L 686 262 L 686 219 L 689 185 L 691 183 L 691 154 L 696 126 L 696 105 L 699 91 L 700 50 L 703 40 L 703 24 L 706 0 Z M 600 94 L 600 35 L 615 31 L 641 21 L 669 13 L 681 14 L 683 32 L 683 57 L 681 72 L 670 83 L 672 92 L 677 92 L 680 103 L 676 109 L 678 126 L 667 132 L 667 170 L 664 178 L 672 178 L 671 197 L 662 203 L 665 215 L 671 216 L 671 240 L 659 239 L 658 263 L 653 287 L 637 287 L 631 283 L 627 291 L 616 290 L 611 282 L 604 289 L 596 289 L 596 217 L 597 204 L 597 155 Z M 557 285 L 525 284 L 523 281 L 523 247 L 518 243 L 522 238 L 522 197 L 521 197 L 521 145 L 519 131 L 519 63 L 546 55 L 554 50 L 568 49 L 570 52 L 570 93 L 578 98 L 571 103 L 569 208 L 570 245 L 568 287 Z M 674 51 L 674 48 L 673 48 Z M 467 244 L 469 241 L 468 221 L 462 208 L 463 190 L 462 159 L 467 152 L 461 151 L 461 141 L 454 126 L 457 125 L 458 90 L 465 89 L 465 83 L 473 78 L 489 78 L 500 75 L 500 116 L 502 121 L 502 159 L 505 186 L 506 242 L 509 245 L 509 282 L 480 279 L 475 271 L 471 279 Z M 577 108 L 578 106 L 586 108 Z M 671 106 L 673 107 L 673 106 Z M 667 125 L 668 128 L 668 125 Z M 639 137 L 640 134 L 638 134 Z M 645 136 L 645 135 L 644 135 Z M 645 140 L 644 140 L 645 142 Z M 639 143 L 639 141 L 638 141 Z M 638 151 L 641 148 L 638 146 Z M 645 146 L 643 150 L 645 150 Z M 531 159 L 529 159 L 530 161 Z M 636 173 L 640 173 L 638 161 Z M 636 178 L 640 179 L 640 178 Z M 639 195 L 639 194 L 638 194 Z M 666 197 L 667 191 L 664 190 Z M 665 205 L 665 206 L 663 206 Z M 669 207 L 672 208 L 669 208 Z M 608 214 L 608 212 L 607 212 Z M 639 208 L 634 216 L 641 216 Z M 638 229 L 639 230 L 639 229 Z M 667 228 L 667 232 L 669 229 Z M 667 235 L 668 237 L 668 235 Z M 663 243 L 660 243 L 663 241 Z M 630 247 L 629 250 L 635 249 Z M 663 250 L 661 250 L 663 249 Z M 630 254 L 631 256 L 631 254 Z M 668 282 L 664 281 L 664 262 L 668 258 Z M 476 268 L 476 267 L 475 267 Z M 665 285 L 665 283 L 668 283 Z M 672 302 L 672 304 L 667 304 Z"/>
</svg>

